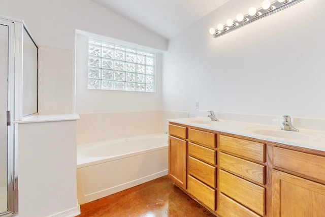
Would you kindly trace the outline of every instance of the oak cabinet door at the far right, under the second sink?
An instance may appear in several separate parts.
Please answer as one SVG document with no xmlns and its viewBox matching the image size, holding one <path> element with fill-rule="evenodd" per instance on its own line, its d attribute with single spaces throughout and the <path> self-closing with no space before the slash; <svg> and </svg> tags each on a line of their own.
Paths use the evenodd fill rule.
<svg viewBox="0 0 325 217">
<path fill-rule="evenodd" d="M 325 185 L 272 170 L 272 216 L 324 216 Z"/>
</svg>

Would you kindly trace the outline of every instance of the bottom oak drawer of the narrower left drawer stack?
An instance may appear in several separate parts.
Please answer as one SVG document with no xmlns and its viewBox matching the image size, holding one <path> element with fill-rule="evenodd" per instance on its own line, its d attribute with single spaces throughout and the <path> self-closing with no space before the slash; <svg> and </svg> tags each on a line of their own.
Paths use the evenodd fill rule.
<svg viewBox="0 0 325 217">
<path fill-rule="evenodd" d="M 215 189 L 188 175 L 187 191 L 210 209 L 215 210 Z"/>
</svg>

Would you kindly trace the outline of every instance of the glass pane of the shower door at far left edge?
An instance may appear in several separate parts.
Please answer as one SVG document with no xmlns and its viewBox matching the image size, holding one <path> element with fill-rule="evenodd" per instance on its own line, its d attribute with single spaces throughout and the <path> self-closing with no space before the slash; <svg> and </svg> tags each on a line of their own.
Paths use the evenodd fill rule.
<svg viewBox="0 0 325 217">
<path fill-rule="evenodd" d="M 0 24 L 0 213 L 8 210 L 8 35 Z"/>
</svg>

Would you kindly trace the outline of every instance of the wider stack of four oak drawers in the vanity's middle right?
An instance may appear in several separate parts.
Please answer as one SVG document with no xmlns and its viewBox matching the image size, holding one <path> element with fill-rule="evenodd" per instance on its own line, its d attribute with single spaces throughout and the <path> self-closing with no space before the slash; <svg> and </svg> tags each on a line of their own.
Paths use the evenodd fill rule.
<svg viewBox="0 0 325 217">
<path fill-rule="evenodd" d="M 221 216 L 265 215 L 265 144 L 220 135 Z M 234 215 L 229 207 L 242 210 Z M 252 212 L 252 211 L 253 212 Z"/>
</svg>

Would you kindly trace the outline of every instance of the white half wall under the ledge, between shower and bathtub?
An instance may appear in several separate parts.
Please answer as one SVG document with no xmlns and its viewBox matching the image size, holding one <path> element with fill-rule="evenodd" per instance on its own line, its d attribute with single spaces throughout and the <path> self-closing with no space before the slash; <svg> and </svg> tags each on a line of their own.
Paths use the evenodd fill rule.
<svg viewBox="0 0 325 217">
<path fill-rule="evenodd" d="M 20 217 L 78 214 L 76 121 L 18 125 Z"/>
</svg>

